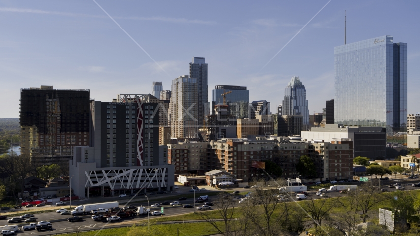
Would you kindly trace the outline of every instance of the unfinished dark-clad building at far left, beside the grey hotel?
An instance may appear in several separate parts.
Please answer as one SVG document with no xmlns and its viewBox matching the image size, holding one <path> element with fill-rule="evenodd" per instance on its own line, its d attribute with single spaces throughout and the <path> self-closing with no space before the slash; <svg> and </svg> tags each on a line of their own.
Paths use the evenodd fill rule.
<svg viewBox="0 0 420 236">
<path fill-rule="evenodd" d="M 73 147 L 89 143 L 89 89 L 21 89 L 21 154 L 66 165 Z"/>
</svg>

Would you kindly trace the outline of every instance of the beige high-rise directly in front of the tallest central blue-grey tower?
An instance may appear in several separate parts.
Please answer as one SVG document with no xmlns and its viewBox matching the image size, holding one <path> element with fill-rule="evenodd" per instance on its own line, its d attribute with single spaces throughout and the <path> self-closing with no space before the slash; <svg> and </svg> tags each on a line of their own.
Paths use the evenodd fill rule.
<svg viewBox="0 0 420 236">
<path fill-rule="evenodd" d="M 189 78 L 188 75 L 172 80 L 171 135 L 174 138 L 197 136 L 200 119 L 197 88 L 197 79 Z"/>
</svg>

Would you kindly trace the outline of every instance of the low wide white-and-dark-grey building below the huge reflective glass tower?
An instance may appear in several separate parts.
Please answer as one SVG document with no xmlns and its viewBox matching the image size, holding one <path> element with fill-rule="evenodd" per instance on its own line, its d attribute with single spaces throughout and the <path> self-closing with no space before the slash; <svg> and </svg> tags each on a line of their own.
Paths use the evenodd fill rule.
<svg viewBox="0 0 420 236">
<path fill-rule="evenodd" d="M 350 138 L 353 141 L 353 156 L 363 156 L 371 160 L 385 158 L 386 131 L 382 127 L 345 126 L 326 124 L 324 128 L 314 127 L 302 131 L 304 140 L 331 142 L 334 138 Z"/>
</svg>

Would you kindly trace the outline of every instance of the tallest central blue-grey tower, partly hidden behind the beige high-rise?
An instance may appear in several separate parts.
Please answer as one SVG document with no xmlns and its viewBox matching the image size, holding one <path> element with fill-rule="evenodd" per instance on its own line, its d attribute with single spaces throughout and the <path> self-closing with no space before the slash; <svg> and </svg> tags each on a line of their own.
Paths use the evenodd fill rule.
<svg viewBox="0 0 420 236">
<path fill-rule="evenodd" d="M 207 65 L 205 58 L 193 57 L 189 63 L 189 78 L 197 79 L 197 117 L 198 125 L 203 126 L 204 117 L 208 115 Z M 172 90 L 174 91 L 174 90 Z"/>
</svg>

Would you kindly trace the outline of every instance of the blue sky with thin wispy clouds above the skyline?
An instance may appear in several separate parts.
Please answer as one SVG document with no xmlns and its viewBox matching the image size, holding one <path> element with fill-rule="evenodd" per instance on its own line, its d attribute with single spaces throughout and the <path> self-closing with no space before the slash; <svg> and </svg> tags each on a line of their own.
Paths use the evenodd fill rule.
<svg viewBox="0 0 420 236">
<path fill-rule="evenodd" d="M 215 85 L 241 85 L 250 100 L 281 103 L 292 76 L 306 87 L 310 113 L 334 98 L 334 46 L 382 35 L 408 43 L 408 113 L 420 112 L 419 1 L 110 1 L 0 0 L 0 118 L 18 117 L 20 88 L 90 89 L 111 101 L 118 93 L 170 90 L 193 56 L 209 64 Z M 263 68 L 263 69 L 262 69 Z"/>
</svg>

